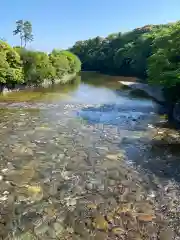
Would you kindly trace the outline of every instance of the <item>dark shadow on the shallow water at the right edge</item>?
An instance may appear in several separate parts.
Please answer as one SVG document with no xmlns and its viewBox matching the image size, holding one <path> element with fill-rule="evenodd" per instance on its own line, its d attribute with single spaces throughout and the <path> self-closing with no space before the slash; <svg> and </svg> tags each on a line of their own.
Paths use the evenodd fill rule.
<svg viewBox="0 0 180 240">
<path fill-rule="evenodd" d="M 128 159 L 150 174 L 180 182 L 180 143 L 151 141 L 147 145 L 136 143 L 125 148 Z"/>
</svg>

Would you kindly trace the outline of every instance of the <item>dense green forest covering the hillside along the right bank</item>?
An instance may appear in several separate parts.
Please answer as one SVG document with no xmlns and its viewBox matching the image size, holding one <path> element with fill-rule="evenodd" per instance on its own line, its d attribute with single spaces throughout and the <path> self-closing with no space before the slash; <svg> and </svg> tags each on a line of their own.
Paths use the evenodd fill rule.
<svg viewBox="0 0 180 240">
<path fill-rule="evenodd" d="M 180 83 L 180 21 L 78 41 L 69 50 L 83 70 L 136 76 L 165 89 Z"/>
</svg>

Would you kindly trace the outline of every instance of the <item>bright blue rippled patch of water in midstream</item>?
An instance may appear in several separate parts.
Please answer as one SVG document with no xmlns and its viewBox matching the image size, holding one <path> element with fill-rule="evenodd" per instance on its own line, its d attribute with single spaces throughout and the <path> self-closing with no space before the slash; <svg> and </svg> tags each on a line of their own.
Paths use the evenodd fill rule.
<svg viewBox="0 0 180 240">
<path fill-rule="evenodd" d="M 139 120 L 149 118 L 149 113 L 153 114 L 153 106 L 139 106 L 123 104 L 102 104 L 99 106 L 85 107 L 78 112 L 89 124 L 103 124 L 131 128 L 132 130 L 144 129 L 139 125 Z"/>
</svg>

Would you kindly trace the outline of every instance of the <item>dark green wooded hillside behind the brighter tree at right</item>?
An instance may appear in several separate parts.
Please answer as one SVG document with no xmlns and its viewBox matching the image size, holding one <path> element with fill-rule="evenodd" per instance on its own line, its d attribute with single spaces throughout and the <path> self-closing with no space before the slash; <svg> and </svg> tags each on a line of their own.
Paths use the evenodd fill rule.
<svg viewBox="0 0 180 240">
<path fill-rule="evenodd" d="M 145 34 L 153 28 L 145 26 L 124 34 L 79 41 L 70 51 L 80 58 L 84 70 L 144 78 L 152 42 Z"/>
</svg>

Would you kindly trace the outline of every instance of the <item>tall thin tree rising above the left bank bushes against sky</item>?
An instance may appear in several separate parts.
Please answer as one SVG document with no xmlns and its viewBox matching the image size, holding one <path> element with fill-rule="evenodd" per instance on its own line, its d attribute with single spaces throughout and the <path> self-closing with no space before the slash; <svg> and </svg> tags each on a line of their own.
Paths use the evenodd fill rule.
<svg viewBox="0 0 180 240">
<path fill-rule="evenodd" d="M 21 47 L 26 47 L 28 42 L 33 41 L 31 22 L 23 20 L 16 21 L 16 29 L 13 31 L 13 34 L 20 35 Z"/>
</svg>

